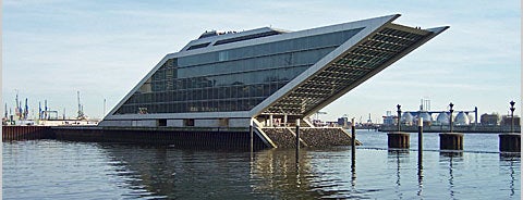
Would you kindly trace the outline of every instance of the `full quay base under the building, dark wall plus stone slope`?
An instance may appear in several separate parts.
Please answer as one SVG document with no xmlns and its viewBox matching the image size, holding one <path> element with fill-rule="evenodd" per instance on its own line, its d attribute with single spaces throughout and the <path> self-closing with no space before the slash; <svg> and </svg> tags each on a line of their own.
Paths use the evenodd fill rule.
<svg viewBox="0 0 523 200">
<path fill-rule="evenodd" d="M 253 134 L 254 149 L 295 148 L 295 127 L 262 128 Z M 100 127 L 100 126 L 3 126 L 2 140 L 58 139 L 86 142 L 169 145 L 179 148 L 250 149 L 248 128 Z M 350 146 L 342 128 L 300 128 L 301 147 Z M 266 138 L 267 137 L 267 138 Z M 360 145 L 358 141 L 356 143 Z"/>
</svg>

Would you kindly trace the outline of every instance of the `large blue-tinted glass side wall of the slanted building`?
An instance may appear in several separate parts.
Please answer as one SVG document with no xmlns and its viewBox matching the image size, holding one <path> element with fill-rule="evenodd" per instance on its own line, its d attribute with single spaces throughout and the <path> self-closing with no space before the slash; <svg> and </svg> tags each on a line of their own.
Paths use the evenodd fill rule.
<svg viewBox="0 0 523 200">
<path fill-rule="evenodd" d="M 114 114 L 250 111 L 362 29 L 169 59 Z"/>
</svg>

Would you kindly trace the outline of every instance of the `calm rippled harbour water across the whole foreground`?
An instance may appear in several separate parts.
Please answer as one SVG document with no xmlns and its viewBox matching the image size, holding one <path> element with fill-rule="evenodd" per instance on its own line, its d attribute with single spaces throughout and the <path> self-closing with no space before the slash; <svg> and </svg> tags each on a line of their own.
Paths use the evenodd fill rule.
<svg viewBox="0 0 523 200">
<path fill-rule="evenodd" d="M 358 132 L 350 148 L 255 152 L 119 143 L 4 142 L 4 199 L 521 199 L 520 155 L 497 153 L 498 136 L 465 135 L 462 153 L 437 151 L 416 134 L 411 151 L 387 150 L 387 135 Z"/>
</svg>

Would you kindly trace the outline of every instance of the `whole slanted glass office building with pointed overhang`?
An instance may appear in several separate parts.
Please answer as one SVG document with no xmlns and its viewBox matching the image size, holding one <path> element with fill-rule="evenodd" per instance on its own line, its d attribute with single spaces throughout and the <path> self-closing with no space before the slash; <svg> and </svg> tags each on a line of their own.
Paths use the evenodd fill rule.
<svg viewBox="0 0 523 200">
<path fill-rule="evenodd" d="M 101 126 L 246 127 L 306 120 L 447 27 L 399 15 L 288 32 L 206 32 L 167 54 Z"/>
</svg>

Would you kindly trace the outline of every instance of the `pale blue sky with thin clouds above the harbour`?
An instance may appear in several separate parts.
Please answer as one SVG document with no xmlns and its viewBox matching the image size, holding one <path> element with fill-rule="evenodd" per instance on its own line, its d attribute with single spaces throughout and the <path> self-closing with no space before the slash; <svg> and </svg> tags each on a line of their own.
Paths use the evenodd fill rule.
<svg viewBox="0 0 523 200">
<path fill-rule="evenodd" d="M 473 110 L 521 113 L 521 5 L 507 1 L 76 1 L 3 0 L 2 102 L 28 98 L 68 117 L 100 118 L 166 54 L 205 30 L 270 26 L 288 30 L 401 14 L 394 23 L 445 33 L 388 66 L 321 111 L 381 122 L 386 111 Z M 104 101 L 106 100 L 106 109 Z M 2 110 L 4 107 L 1 107 Z M 3 113 L 3 111 L 2 111 Z M 3 115 L 3 114 L 2 114 Z"/>
</svg>

